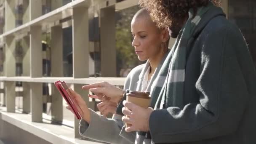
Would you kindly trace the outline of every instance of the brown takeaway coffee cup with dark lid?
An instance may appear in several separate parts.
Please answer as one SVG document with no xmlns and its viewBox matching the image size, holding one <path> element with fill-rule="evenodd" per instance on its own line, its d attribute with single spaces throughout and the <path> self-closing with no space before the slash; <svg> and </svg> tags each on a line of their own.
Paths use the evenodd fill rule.
<svg viewBox="0 0 256 144">
<path fill-rule="evenodd" d="M 126 94 L 126 101 L 129 101 L 133 104 L 136 104 L 143 108 L 148 108 L 151 102 L 149 92 L 139 92 L 139 91 L 130 91 Z M 130 124 L 126 124 L 126 127 L 131 126 Z"/>
</svg>

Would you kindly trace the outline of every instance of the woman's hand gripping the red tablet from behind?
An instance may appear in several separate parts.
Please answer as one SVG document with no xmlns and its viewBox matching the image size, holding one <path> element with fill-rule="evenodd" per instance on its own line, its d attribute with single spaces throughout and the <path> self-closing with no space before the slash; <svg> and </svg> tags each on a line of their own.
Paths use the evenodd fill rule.
<svg viewBox="0 0 256 144">
<path fill-rule="evenodd" d="M 69 88 L 67 90 L 67 93 L 69 93 L 71 99 L 77 103 L 77 105 L 78 105 L 77 111 L 81 114 L 81 117 L 87 123 L 90 123 L 90 121 L 91 121 L 90 111 L 89 111 L 89 109 L 87 107 L 87 104 L 85 103 L 83 98 L 80 96 L 80 94 L 78 94 L 75 91 L 73 91 L 72 88 Z M 72 112 L 72 110 L 71 110 L 71 108 L 69 106 L 67 106 L 66 108 L 69 109 Z"/>
</svg>

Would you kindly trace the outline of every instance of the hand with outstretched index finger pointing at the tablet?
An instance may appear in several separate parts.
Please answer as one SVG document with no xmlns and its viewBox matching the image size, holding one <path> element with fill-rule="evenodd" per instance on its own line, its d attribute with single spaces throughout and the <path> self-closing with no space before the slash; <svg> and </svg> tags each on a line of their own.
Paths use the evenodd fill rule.
<svg viewBox="0 0 256 144">
<path fill-rule="evenodd" d="M 115 85 L 110 85 L 107 82 L 84 85 L 83 89 L 91 91 L 98 97 L 107 96 L 110 98 L 110 101 L 113 101 L 116 103 L 118 103 L 123 96 L 123 90 L 115 87 Z"/>
</svg>

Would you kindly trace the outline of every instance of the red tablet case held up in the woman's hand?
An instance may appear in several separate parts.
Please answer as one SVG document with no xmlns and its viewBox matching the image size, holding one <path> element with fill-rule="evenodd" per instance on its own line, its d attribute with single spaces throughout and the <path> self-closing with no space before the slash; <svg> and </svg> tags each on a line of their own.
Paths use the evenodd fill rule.
<svg viewBox="0 0 256 144">
<path fill-rule="evenodd" d="M 69 107 L 71 108 L 72 112 L 75 114 L 75 117 L 77 119 L 81 119 L 81 114 L 78 112 L 77 107 L 79 107 L 79 105 L 73 101 L 71 99 L 71 97 L 69 96 L 69 94 L 67 93 L 67 88 L 65 88 L 66 83 L 63 81 L 61 82 L 60 80 L 56 81 L 54 83 L 54 85 L 56 86 L 56 88 L 59 90 L 59 93 L 61 93 L 61 96 L 65 99 L 65 101 L 67 102 L 67 104 L 69 105 Z"/>
</svg>

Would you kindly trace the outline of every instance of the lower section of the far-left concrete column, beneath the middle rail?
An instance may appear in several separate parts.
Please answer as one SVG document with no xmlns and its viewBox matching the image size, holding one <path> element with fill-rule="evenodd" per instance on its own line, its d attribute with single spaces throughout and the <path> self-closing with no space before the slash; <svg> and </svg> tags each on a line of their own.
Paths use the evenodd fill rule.
<svg viewBox="0 0 256 144">
<path fill-rule="evenodd" d="M 15 112 L 15 82 L 5 82 L 5 98 L 7 112 Z"/>
</svg>

